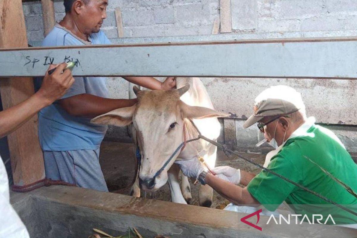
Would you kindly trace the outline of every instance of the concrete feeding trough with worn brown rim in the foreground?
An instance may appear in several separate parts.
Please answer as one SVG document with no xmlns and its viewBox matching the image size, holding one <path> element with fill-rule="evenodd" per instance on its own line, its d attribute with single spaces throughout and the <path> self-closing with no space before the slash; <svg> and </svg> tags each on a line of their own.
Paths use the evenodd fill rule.
<svg viewBox="0 0 357 238">
<path fill-rule="evenodd" d="M 247 214 L 135 198 L 78 187 L 50 186 L 28 193 L 11 193 L 11 203 L 32 238 L 87 238 L 92 228 L 113 236 L 128 227 L 155 237 L 356 237 L 355 229 L 303 224 L 267 224 L 260 216 L 256 228 L 240 221 Z M 256 216 L 247 219 L 256 224 Z"/>
</svg>

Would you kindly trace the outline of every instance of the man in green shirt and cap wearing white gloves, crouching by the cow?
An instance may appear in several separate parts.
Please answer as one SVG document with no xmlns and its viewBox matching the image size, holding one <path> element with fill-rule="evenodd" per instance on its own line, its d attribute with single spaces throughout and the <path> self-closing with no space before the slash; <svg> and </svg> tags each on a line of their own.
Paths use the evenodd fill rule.
<svg viewBox="0 0 357 238">
<path fill-rule="evenodd" d="M 287 86 L 270 87 L 257 96 L 253 110 L 243 127 L 258 123 L 264 137 L 276 148 L 268 169 L 357 212 L 357 198 L 321 169 L 356 192 L 357 164 L 333 132 L 315 125 L 315 118 L 306 118 L 300 93 Z M 296 214 L 302 215 L 300 219 L 306 214 L 311 222 L 317 223 L 319 217 L 313 214 L 321 214 L 323 223 L 331 214 L 336 224 L 357 224 L 357 216 L 269 172 L 262 170 L 255 175 L 222 166 L 212 169 L 217 173 L 213 176 L 194 160 L 177 163 L 185 175 L 197 177 L 234 204 L 262 204 L 275 211 L 286 201 Z M 246 187 L 237 186 L 239 183 Z M 326 224 L 333 222 L 330 219 Z"/>
</svg>

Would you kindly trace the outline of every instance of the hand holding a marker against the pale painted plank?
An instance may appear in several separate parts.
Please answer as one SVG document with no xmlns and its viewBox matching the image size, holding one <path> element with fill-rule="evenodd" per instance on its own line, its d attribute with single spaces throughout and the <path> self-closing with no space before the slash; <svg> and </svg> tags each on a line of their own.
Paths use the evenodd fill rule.
<svg viewBox="0 0 357 238">
<path fill-rule="evenodd" d="M 36 94 L 39 95 L 47 105 L 50 105 L 52 102 L 62 97 L 74 82 L 70 70 L 65 70 L 63 74 L 61 73 L 66 66 L 66 63 L 50 65 L 48 70 L 54 69 L 55 67 L 57 67 L 57 69 L 51 75 L 48 74 L 48 70 L 45 74 L 42 86 Z"/>
</svg>

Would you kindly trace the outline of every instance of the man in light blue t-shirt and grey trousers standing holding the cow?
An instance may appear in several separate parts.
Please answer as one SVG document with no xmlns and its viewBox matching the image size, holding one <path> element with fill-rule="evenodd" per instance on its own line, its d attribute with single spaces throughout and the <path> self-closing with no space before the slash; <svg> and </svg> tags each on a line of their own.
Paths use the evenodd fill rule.
<svg viewBox="0 0 357 238">
<path fill-rule="evenodd" d="M 100 27 L 108 0 L 64 0 L 66 15 L 46 36 L 42 46 L 110 44 Z M 100 72 L 99 72 L 100 74 Z M 125 77 L 152 90 L 176 86 L 174 78 Z M 39 138 L 46 177 L 79 187 L 108 191 L 99 164 L 99 147 L 107 127 L 90 123 L 92 117 L 132 106 L 136 99 L 110 99 L 106 77 L 75 77 L 58 101 L 39 112 Z"/>
</svg>

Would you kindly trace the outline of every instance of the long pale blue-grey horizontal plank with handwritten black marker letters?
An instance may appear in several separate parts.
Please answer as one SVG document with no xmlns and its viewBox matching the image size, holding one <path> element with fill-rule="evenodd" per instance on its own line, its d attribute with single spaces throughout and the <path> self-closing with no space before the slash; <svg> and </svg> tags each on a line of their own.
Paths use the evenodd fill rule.
<svg viewBox="0 0 357 238">
<path fill-rule="evenodd" d="M 357 78 L 357 40 L 93 45 L 0 51 L 0 76 L 42 76 L 76 62 L 75 76 Z"/>
</svg>

